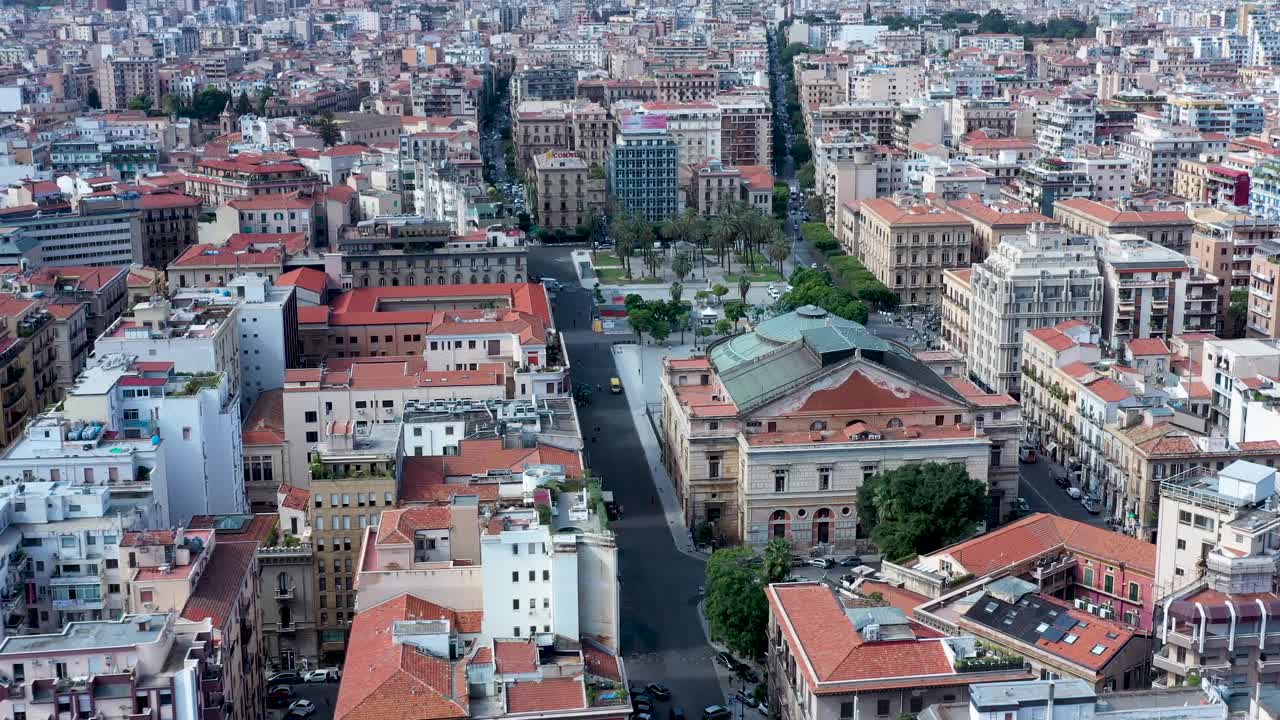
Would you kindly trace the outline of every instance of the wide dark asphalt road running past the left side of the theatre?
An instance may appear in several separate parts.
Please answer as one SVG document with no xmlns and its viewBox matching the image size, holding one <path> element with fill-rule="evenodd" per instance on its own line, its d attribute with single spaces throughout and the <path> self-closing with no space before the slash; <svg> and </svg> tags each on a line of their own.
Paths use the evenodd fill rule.
<svg viewBox="0 0 1280 720">
<path fill-rule="evenodd" d="M 591 293 L 572 282 L 568 250 L 534 247 L 530 272 L 553 277 L 570 290 L 552 302 L 556 325 L 564 333 L 573 382 L 608 388 L 618 373 L 611 346 L 617 336 L 590 331 Z M 576 320 L 576 323 L 575 323 Z M 672 703 L 687 716 L 724 697 L 712 666 L 714 655 L 698 619 L 698 588 L 704 564 L 676 551 L 660 505 L 654 503 L 653 477 L 645 464 L 627 401 L 608 389 L 596 392 L 579 410 L 586 439 L 586 461 L 603 475 L 604 489 L 622 505 L 623 516 L 611 523 L 617 533 L 622 584 L 622 655 L 631 684 L 667 684 L 672 701 L 659 703 L 666 716 Z"/>
</svg>

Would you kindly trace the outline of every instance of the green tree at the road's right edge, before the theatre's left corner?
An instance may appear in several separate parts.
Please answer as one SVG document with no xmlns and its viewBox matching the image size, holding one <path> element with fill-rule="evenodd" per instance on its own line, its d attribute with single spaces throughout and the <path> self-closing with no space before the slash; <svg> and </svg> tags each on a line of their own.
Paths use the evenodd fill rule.
<svg viewBox="0 0 1280 720">
<path fill-rule="evenodd" d="M 769 605 L 751 550 L 717 550 L 707 561 L 705 610 L 713 639 L 746 657 L 764 652 Z"/>
</svg>

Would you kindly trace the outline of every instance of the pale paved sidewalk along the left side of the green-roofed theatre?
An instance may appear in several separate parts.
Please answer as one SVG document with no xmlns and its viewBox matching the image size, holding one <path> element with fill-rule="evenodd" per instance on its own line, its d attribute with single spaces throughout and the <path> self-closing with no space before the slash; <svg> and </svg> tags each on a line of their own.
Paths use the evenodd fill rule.
<svg viewBox="0 0 1280 720">
<path fill-rule="evenodd" d="M 667 351 L 676 356 L 689 354 L 687 351 L 681 352 L 682 348 L 649 347 L 648 350 Z M 645 413 L 645 402 L 648 401 L 645 388 L 657 388 L 659 386 L 655 369 L 645 368 L 644 377 L 641 377 L 640 359 L 643 352 L 644 348 L 636 345 L 613 346 L 613 360 L 618 368 L 618 378 L 622 380 L 622 388 L 626 391 L 627 406 L 631 410 L 631 421 L 635 424 L 636 436 L 639 436 L 640 446 L 644 448 L 645 461 L 649 464 L 649 471 L 653 474 L 654 489 L 658 493 L 658 500 L 662 501 L 662 511 L 667 516 L 667 529 L 671 530 L 671 539 L 675 542 L 676 550 L 689 557 L 705 562 L 707 553 L 694 547 L 689 527 L 685 524 L 685 514 L 680 509 L 680 500 L 676 497 L 671 478 L 662 464 L 662 446 L 658 443 L 658 437 L 649 423 L 649 415 Z"/>
</svg>

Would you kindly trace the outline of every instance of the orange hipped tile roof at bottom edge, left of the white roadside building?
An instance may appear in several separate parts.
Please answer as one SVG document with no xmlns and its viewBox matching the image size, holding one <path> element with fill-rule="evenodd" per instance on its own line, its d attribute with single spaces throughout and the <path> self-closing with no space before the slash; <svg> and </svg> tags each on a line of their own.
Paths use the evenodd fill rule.
<svg viewBox="0 0 1280 720">
<path fill-rule="evenodd" d="M 401 594 L 356 615 L 335 720 L 448 720 L 470 715 L 467 661 L 449 662 L 397 644 L 398 620 L 436 620 L 439 606 Z"/>
</svg>

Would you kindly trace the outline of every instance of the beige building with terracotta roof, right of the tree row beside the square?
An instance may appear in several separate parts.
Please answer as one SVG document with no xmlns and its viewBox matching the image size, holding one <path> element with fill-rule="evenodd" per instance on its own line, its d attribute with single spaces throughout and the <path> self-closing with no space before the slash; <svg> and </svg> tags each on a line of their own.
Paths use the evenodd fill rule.
<svg viewBox="0 0 1280 720">
<path fill-rule="evenodd" d="M 959 213 L 929 202 L 878 197 L 861 204 L 859 260 L 896 292 L 902 305 L 942 302 L 942 272 L 968 268 L 973 227 Z"/>
</svg>

